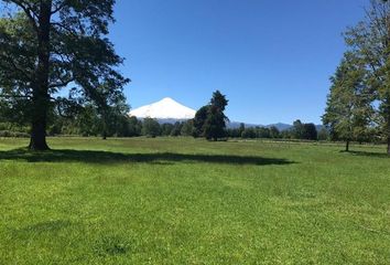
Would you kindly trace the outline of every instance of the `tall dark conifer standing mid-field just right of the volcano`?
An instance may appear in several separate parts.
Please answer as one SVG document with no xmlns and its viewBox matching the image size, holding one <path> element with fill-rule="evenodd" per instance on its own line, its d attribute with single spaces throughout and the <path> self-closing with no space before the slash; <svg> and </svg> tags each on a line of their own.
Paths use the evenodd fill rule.
<svg viewBox="0 0 390 265">
<path fill-rule="evenodd" d="M 208 114 L 204 124 L 204 135 L 206 139 L 217 140 L 218 138 L 226 137 L 226 120 L 227 117 L 224 110 L 228 104 L 226 96 L 219 91 L 213 93 L 212 100 L 208 107 Z"/>
</svg>

